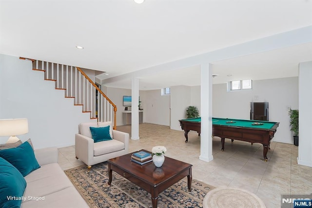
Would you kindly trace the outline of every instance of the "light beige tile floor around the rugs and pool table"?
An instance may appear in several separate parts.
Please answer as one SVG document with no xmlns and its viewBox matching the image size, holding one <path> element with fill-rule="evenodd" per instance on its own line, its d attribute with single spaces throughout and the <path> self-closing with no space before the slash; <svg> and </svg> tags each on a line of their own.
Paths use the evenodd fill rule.
<svg viewBox="0 0 312 208">
<path fill-rule="evenodd" d="M 117 130 L 131 135 L 131 125 L 117 126 Z M 238 187 L 255 193 L 267 208 L 280 208 L 281 194 L 311 194 L 312 167 L 297 165 L 298 148 L 294 145 L 272 142 L 268 162 L 263 159 L 263 147 L 226 139 L 221 151 L 220 139 L 213 139 L 214 160 L 199 160 L 200 137 L 189 132 L 185 143 L 184 132 L 169 126 L 140 124 L 139 140 L 130 140 L 129 152 L 151 150 L 166 146 L 165 156 L 193 165 L 193 178 L 214 187 Z M 65 170 L 83 163 L 75 158 L 75 146 L 59 148 L 59 165 Z"/>
</svg>

